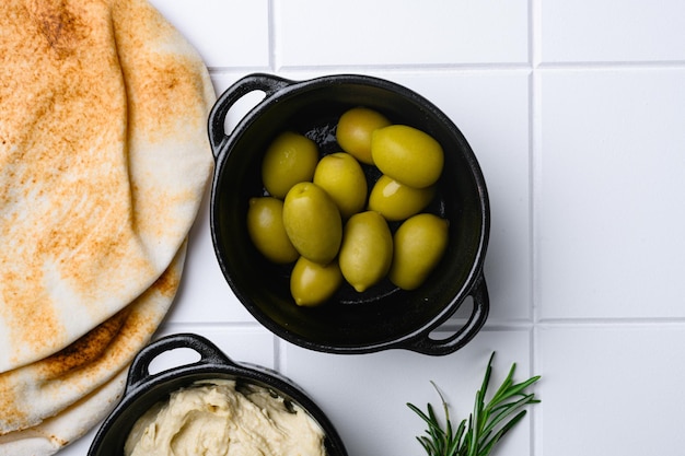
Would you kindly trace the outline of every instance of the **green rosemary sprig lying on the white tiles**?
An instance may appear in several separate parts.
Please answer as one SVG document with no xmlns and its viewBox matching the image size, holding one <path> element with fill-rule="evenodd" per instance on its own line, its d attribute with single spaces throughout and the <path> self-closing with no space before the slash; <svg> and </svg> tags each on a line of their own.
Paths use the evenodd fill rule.
<svg viewBox="0 0 685 456">
<path fill-rule="evenodd" d="M 486 402 L 486 393 L 492 373 L 492 359 L 490 355 L 488 366 L 480 389 L 476 393 L 474 411 L 453 428 L 450 419 L 450 410 L 444 397 L 433 382 L 431 384 L 438 391 L 444 413 L 444 428 L 440 424 L 433 407 L 428 404 L 427 412 L 419 410 L 413 404 L 407 404 L 426 423 L 426 434 L 416 437 L 428 456 L 487 456 L 504 434 L 507 434 L 519 421 L 523 419 L 529 404 L 537 404 L 538 399 L 525 389 L 537 382 L 539 375 L 525 382 L 515 384 L 513 374 L 516 364 L 512 364 L 507 378 L 502 382 L 492 398 Z M 515 413 L 515 414 L 514 414 Z"/>
</svg>

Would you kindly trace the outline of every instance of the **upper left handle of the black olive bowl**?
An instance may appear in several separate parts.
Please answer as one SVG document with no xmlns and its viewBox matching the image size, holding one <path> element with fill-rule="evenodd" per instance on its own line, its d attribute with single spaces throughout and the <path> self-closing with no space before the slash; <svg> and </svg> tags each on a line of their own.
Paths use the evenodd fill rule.
<svg viewBox="0 0 685 456">
<path fill-rule="evenodd" d="M 254 73 L 240 79 L 221 94 L 209 113 L 209 142 L 214 157 L 219 155 L 221 147 L 229 138 L 224 128 L 225 117 L 231 107 L 240 98 L 247 95 L 249 92 L 262 91 L 266 94 L 264 98 L 264 101 L 266 101 L 279 90 L 293 83 L 293 81 L 272 74 Z M 264 101 L 262 101 L 262 103 L 264 103 Z"/>
</svg>

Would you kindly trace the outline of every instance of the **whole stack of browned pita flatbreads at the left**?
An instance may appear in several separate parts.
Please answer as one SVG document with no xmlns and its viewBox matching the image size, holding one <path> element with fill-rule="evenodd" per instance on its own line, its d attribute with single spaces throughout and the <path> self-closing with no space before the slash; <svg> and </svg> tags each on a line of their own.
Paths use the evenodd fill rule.
<svg viewBox="0 0 685 456">
<path fill-rule="evenodd" d="M 120 398 L 179 284 L 213 102 L 147 0 L 0 2 L 0 455 Z"/>
</svg>

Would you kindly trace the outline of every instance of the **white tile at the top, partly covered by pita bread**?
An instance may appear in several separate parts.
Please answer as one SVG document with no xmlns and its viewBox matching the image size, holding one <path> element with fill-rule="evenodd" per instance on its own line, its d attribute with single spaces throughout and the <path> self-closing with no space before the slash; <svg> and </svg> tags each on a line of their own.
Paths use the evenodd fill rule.
<svg viewBox="0 0 685 456">
<path fill-rule="evenodd" d="M 150 0 L 208 67 L 269 66 L 268 0 Z"/>
</svg>

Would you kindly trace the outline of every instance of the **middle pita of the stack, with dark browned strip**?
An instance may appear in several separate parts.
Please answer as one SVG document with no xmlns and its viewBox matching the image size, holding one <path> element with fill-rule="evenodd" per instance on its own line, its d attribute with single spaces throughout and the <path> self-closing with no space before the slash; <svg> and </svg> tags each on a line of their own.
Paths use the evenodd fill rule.
<svg viewBox="0 0 685 456">
<path fill-rule="evenodd" d="M 184 244 L 174 262 L 146 293 L 66 349 L 0 374 L 0 435 L 39 425 L 126 370 L 166 315 L 181 282 L 185 253 Z M 67 429 L 80 432 L 82 423 L 73 422 L 71 426 Z M 58 442 L 73 437 L 60 435 Z"/>
</svg>

